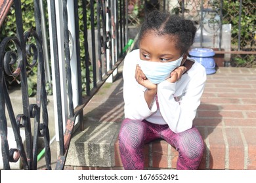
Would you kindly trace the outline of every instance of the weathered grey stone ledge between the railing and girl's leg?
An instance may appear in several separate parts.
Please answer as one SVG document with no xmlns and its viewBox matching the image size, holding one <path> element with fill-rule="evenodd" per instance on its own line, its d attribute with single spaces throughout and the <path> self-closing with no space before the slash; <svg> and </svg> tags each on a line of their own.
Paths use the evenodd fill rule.
<svg viewBox="0 0 256 183">
<path fill-rule="evenodd" d="M 86 122 L 84 131 L 74 133 L 65 166 L 113 167 L 114 145 L 120 123 Z"/>
</svg>

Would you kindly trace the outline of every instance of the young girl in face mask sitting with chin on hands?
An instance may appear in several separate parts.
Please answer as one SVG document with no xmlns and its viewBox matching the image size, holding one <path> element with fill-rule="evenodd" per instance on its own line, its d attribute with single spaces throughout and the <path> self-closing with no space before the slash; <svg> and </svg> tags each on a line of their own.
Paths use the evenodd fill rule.
<svg viewBox="0 0 256 183">
<path fill-rule="evenodd" d="M 123 65 L 125 120 L 119 131 L 124 169 L 144 169 L 144 144 L 164 139 L 179 152 L 177 169 L 198 169 L 203 140 L 193 126 L 206 80 L 205 68 L 188 58 L 196 27 L 166 12 L 148 14 L 139 49 Z"/>
</svg>

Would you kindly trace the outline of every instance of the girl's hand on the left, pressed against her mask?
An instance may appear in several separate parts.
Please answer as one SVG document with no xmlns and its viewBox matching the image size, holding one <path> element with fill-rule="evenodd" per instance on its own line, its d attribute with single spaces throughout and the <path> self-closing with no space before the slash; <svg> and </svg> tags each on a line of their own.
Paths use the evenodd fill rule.
<svg viewBox="0 0 256 183">
<path fill-rule="evenodd" d="M 146 76 L 144 75 L 144 73 L 140 69 L 139 64 L 136 65 L 135 79 L 137 80 L 137 82 L 140 85 L 148 88 L 148 90 L 156 90 L 156 88 L 157 88 L 156 84 L 153 84 L 152 82 L 150 82 L 150 80 L 148 80 L 146 78 Z"/>
</svg>

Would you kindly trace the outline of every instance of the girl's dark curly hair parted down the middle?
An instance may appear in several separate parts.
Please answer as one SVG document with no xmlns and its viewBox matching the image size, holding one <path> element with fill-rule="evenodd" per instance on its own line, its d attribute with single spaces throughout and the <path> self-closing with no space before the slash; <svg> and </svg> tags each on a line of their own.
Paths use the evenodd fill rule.
<svg viewBox="0 0 256 183">
<path fill-rule="evenodd" d="M 191 20 L 185 20 L 180 16 L 154 10 L 147 14 L 140 27 L 139 41 L 148 32 L 157 35 L 169 35 L 170 39 L 175 40 L 175 46 L 181 50 L 181 54 L 188 52 L 194 43 L 196 26 Z"/>
</svg>

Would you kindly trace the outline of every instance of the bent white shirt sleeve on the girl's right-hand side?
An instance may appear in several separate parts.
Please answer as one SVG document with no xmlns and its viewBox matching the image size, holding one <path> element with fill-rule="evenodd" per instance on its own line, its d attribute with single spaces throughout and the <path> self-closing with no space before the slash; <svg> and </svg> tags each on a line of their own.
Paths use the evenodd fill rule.
<svg viewBox="0 0 256 183">
<path fill-rule="evenodd" d="M 163 81 L 158 84 L 160 112 L 174 133 L 180 133 L 192 127 L 196 110 L 200 105 L 206 73 L 204 68 L 195 73 L 195 75 L 190 76 L 190 82 L 188 82 L 180 102 L 175 101 L 173 97 L 176 83 Z"/>
</svg>

